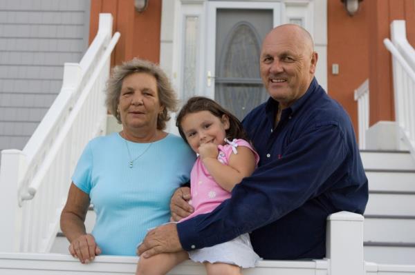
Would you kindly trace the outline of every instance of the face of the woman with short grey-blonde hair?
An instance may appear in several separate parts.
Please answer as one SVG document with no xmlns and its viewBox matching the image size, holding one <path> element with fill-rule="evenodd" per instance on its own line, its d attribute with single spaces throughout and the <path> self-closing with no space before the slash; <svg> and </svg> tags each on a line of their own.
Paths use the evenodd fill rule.
<svg viewBox="0 0 415 275">
<path fill-rule="evenodd" d="M 135 72 L 125 77 L 118 111 L 124 129 L 157 128 L 157 117 L 163 107 L 158 99 L 156 78 L 145 72 Z"/>
</svg>

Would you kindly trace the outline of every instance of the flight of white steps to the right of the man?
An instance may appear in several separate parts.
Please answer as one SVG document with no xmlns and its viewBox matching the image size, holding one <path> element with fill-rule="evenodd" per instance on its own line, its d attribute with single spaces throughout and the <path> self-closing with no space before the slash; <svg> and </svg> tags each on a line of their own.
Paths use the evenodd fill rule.
<svg viewBox="0 0 415 275">
<path fill-rule="evenodd" d="M 415 160 L 409 152 L 361 155 L 369 179 L 365 261 L 415 265 Z"/>
</svg>

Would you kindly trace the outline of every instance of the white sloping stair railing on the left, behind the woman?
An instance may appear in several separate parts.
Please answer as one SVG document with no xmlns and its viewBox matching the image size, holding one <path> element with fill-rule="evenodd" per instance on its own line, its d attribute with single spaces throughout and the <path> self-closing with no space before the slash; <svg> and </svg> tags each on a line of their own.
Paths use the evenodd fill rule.
<svg viewBox="0 0 415 275">
<path fill-rule="evenodd" d="M 65 63 L 62 89 L 23 150 L 3 150 L 0 251 L 48 252 L 59 228 L 71 173 L 87 141 L 103 134 L 104 86 L 111 52 L 111 14 L 80 63 Z M 1 273 L 1 272 L 0 272 Z"/>
</svg>

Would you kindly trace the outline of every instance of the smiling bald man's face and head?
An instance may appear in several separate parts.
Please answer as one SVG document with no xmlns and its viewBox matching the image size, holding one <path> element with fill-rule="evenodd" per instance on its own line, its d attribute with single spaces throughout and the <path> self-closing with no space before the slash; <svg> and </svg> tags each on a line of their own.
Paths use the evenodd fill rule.
<svg viewBox="0 0 415 275">
<path fill-rule="evenodd" d="M 311 40 L 295 26 L 278 27 L 262 45 L 261 79 L 270 96 L 287 108 L 308 89 L 316 63 Z"/>
</svg>

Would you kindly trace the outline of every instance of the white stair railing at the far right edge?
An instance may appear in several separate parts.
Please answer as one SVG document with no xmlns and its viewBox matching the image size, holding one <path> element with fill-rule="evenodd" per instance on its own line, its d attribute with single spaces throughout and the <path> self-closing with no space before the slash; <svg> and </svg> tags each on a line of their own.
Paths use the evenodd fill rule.
<svg viewBox="0 0 415 275">
<path fill-rule="evenodd" d="M 383 43 L 392 55 L 398 139 L 415 158 L 415 50 L 407 41 L 405 21 L 392 21 L 391 40 L 385 39 Z"/>
</svg>

